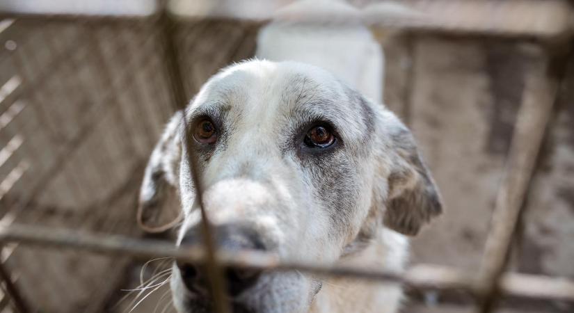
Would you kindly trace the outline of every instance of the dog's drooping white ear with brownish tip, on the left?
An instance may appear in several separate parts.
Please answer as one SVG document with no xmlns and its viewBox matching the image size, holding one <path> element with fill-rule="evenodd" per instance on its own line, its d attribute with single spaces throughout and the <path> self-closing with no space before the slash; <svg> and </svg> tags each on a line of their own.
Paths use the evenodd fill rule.
<svg viewBox="0 0 574 313">
<path fill-rule="evenodd" d="M 154 147 L 141 185 L 137 222 L 146 232 L 164 232 L 183 217 L 179 200 L 183 112 L 170 119 Z"/>
</svg>

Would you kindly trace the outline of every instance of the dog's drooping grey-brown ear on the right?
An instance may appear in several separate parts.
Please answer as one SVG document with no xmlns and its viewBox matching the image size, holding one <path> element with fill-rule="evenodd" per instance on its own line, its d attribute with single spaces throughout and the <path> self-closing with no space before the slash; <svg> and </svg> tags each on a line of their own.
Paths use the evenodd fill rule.
<svg viewBox="0 0 574 313">
<path fill-rule="evenodd" d="M 438 188 L 417 150 L 410 131 L 394 114 L 387 112 L 385 136 L 390 141 L 388 194 L 383 223 L 392 230 L 413 236 L 431 218 L 443 211 Z"/>
</svg>

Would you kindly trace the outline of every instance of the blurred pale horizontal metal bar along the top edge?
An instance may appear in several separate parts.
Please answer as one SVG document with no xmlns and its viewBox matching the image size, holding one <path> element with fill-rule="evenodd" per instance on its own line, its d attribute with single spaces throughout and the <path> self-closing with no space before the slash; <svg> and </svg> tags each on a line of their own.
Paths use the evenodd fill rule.
<svg viewBox="0 0 574 313">
<path fill-rule="evenodd" d="M 254 5 L 249 0 L 173 0 L 170 13 L 182 22 L 186 19 L 239 19 L 257 24 L 273 18 L 295 21 L 337 22 L 360 21 L 369 26 L 415 32 L 454 33 L 463 35 L 494 35 L 516 38 L 561 38 L 572 35 L 572 6 L 564 0 L 410 0 L 402 4 L 373 1 L 356 12 L 304 10 L 289 15 L 283 10 L 285 1 L 263 1 Z M 148 19 L 152 15 L 94 15 L 79 13 L 0 10 L 0 18 L 28 21 L 113 22 Z"/>
</svg>

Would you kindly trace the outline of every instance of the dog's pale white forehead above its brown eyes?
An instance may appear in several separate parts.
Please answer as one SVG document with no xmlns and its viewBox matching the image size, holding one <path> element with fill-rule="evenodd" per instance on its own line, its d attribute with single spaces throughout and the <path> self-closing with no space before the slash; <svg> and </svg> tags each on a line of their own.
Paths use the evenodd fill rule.
<svg viewBox="0 0 574 313">
<path fill-rule="evenodd" d="M 296 62 L 248 61 L 222 70 L 202 87 L 191 109 L 218 106 L 243 120 L 312 115 L 357 138 L 372 125 L 372 111 L 356 91 L 319 67 Z M 365 128 L 367 127 L 367 128 Z"/>
</svg>

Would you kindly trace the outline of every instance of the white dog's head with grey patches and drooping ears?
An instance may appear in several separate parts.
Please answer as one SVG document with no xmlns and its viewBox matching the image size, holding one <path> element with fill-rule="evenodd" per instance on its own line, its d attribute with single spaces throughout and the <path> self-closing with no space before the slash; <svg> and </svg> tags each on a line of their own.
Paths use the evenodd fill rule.
<svg viewBox="0 0 574 313">
<path fill-rule="evenodd" d="M 377 227 L 412 235 L 441 211 L 408 129 L 310 65 L 232 65 L 169 122 L 145 172 L 140 218 L 179 195 L 180 244 L 200 242 L 191 150 L 216 241 L 230 250 L 330 264 Z M 305 312 L 321 286 L 299 272 L 226 273 L 234 312 Z M 209 310 L 197 268 L 174 266 L 172 289 L 180 312 Z"/>
</svg>

